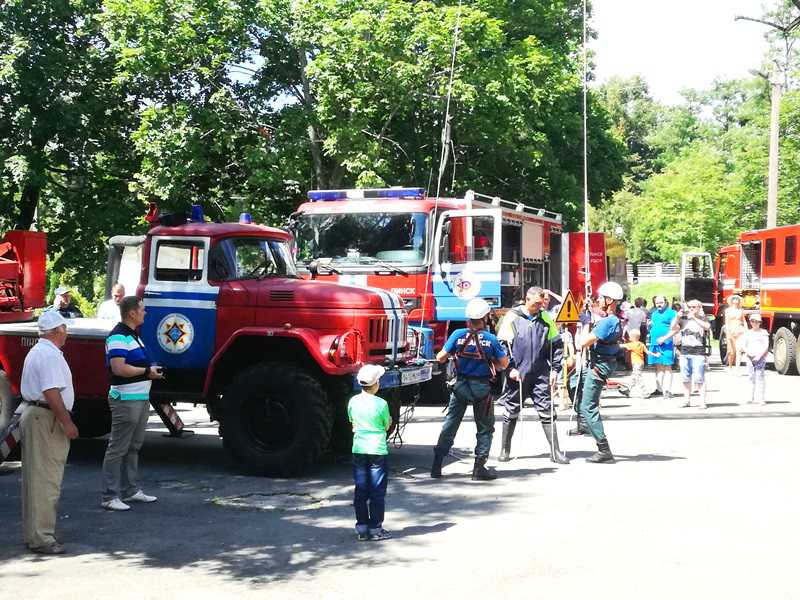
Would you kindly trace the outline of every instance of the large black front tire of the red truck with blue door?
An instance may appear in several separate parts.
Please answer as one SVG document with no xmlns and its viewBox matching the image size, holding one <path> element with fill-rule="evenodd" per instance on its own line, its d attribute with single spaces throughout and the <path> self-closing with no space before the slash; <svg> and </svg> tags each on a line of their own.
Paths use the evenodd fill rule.
<svg viewBox="0 0 800 600">
<path fill-rule="evenodd" d="M 328 447 L 328 397 L 307 371 L 264 363 L 239 374 L 222 398 L 223 445 L 247 471 L 293 477 Z"/>
</svg>

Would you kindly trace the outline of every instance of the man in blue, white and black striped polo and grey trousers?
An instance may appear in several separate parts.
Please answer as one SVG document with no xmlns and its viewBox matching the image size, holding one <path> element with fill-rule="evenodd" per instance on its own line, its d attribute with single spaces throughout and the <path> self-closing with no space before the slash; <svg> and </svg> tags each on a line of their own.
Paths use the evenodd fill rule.
<svg viewBox="0 0 800 600">
<path fill-rule="evenodd" d="M 101 504 L 108 510 L 129 510 L 127 502 L 157 500 L 139 488 L 139 449 L 150 414 L 152 380 L 164 378 L 161 367 L 150 360 L 136 333 L 144 323 L 144 303 L 136 296 L 127 296 L 119 309 L 122 320 L 106 338 L 111 437 L 103 459 Z"/>
</svg>

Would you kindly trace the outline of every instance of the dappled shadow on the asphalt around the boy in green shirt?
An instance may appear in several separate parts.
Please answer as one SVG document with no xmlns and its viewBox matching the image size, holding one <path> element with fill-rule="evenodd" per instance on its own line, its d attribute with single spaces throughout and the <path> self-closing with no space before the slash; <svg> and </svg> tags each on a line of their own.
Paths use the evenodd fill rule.
<svg viewBox="0 0 800 600">
<path fill-rule="evenodd" d="M 249 583 L 307 577 L 337 566 L 385 564 L 385 555 L 376 552 L 372 543 L 356 540 L 351 471 L 349 464 L 342 464 L 342 457 L 333 457 L 303 478 L 266 479 L 239 474 L 219 445 L 215 436 L 168 440 L 149 432 L 141 453 L 142 487 L 159 500 L 116 513 L 99 506 L 105 442 L 75 442 L 58 511 L 58 535 L 68 556 L 97 560 L 100 555 L 128 567 L 191 567 Z M 395 522 L 413 523 L 394 531 L 403 544 L 426 544 L 427 535 L 519 501 L 519 494 L 506 490 L 487 502 L 486 484 L 469 481 L 468 474 L 431 480 L 427 474 L 430 452 L 430 446 L 407 444 L 390 458 L 395 476 L 389 483 L 385 524 L 391 531 Z M 525 469 L 499 475 L 547 471 Z M 458 485 L 455 494 L 452 484 Z M 253 496 L 291 496 L 301 504 L 268 510 L 219 504 L 220 498 Z M 0 479 L 0 522 L 6 526 L 0 540 L 0 565 L 42 560 L 27 554 L 22 545 L 20 512 L 17 472 Z M 411 559 L 393 560 L 400 566 L 413 566 Z M 0 569 L 0 580 L 14 574 L 12 569 L 7 564 Z"/>
</svg>

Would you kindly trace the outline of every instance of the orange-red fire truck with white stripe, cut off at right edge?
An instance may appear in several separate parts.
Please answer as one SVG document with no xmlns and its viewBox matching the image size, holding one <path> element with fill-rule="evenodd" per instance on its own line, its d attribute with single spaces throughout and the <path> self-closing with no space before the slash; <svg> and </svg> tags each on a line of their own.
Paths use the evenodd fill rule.
<svg viewBox="0 0 800 600">
<path fill-rule="evenodd" d="M 745 231 L 720 248 L 711 269 L 711 255 L 688 256 L 685 296 L 713 306 L 720 354 L 726 358 L 724 317 L 733 294 L 742 297 L 745 313 L 758 312 L 772 334 L 775 370 L 794 375 L 800 370 L 800 263 L 797 241 L 800 225 Z"/>
</svg>

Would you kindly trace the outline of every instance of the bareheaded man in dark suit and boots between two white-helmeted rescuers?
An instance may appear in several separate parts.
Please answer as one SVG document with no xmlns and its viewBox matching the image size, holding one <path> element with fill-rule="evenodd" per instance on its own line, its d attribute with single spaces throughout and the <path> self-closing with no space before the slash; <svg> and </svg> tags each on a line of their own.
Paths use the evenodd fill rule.
<svg viewBox="0 0 800 600">
<path fill-rule="evenodd" d="M 551 377 L 561 372 L 563 345 L 552 317 L 544 310 L 546 292 L 532 287 L 525 304 L 506 313 L 498 337 L 511 350 L 506 391 L 500 399 L 503 413 L 502 450 L 498 460 L 511 459 L 511 438 L 519 420 L 522 398 L 532 398 L 550 446 L 550 460 L 564 465 L 567 455 L 558 447 L 555 413 L 550 393 Z"/>
</svg>

